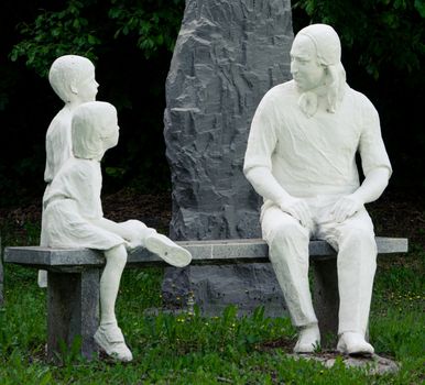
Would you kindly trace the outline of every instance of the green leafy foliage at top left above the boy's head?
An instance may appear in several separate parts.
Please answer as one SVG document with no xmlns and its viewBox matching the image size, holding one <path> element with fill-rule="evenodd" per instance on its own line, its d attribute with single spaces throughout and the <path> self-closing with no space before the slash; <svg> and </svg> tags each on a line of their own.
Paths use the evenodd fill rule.
<svg viewBox="0 0 425 385">
<path fill-rule="evenodd" d="M 51 63 L 65 54 L 96 62 L 119 36 L 133 35 L 146 58 L 162 47 L 172 51 L 181 23 L 184 0 L 68 0 L 58 11 L 42 11 L 34 22 L 18 30 L 23 40 L 10 58 L 22 57 L 29 67 L 45 76 Z"/>
</svg>

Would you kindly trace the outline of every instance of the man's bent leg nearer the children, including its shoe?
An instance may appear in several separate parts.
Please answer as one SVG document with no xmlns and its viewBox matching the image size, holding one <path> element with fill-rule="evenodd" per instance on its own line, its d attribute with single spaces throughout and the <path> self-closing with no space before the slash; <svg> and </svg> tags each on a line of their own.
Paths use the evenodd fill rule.
<svg viewBox="0 0 425 385">
<path fill-rule="evenodd" d="M 301 329 L 294 350 L 313 352 L 320 336 L 308 284 L 309 232 L 275 206 L 264 210 L 261 226 L 293 324 Z"/>
</svg>

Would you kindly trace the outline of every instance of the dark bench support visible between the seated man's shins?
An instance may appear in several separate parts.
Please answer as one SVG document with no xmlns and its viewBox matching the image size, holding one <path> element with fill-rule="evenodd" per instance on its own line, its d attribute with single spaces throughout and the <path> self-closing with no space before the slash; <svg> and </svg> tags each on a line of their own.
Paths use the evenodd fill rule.
<svg viewBox="0 0 425 385">
<path fill-rule="evenodd" d="M 318 319 L 322 338 L 335 341 L 338 332 L 338 275 L 337 258 L 313 261 L 314 288 L 313 304 Z M 331 340 L 329 341 L 329 336 Z"/>
</svg>

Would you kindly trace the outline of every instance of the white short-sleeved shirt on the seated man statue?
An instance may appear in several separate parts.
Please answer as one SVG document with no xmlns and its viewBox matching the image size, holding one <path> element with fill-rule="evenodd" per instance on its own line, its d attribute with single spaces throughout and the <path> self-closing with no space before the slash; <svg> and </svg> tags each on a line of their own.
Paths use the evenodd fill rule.
<svg viewBox="0 0 425 385">
<path fill-rule="evenodd" d="M 251 124 L 243 170 L 268 167 L 294 197 L 351 194 L 359 187 L 356 153 L 364 175 L 391 164 L 378 112 L 369 99 L 346 86 L 335 113 L 308 118 L 299 108 L 294 81 L 272 88 Z"/>
</svg>

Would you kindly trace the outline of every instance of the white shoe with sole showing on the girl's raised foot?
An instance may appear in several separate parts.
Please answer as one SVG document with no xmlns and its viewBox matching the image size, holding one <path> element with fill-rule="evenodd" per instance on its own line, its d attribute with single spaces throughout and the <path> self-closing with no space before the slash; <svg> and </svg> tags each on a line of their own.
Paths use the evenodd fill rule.
<svg viewBox="0 0 425 385">
<path fill-rule="evenodd" d="M 192 255 L 187 250 L 159 233 L 146 237 L 144 246 L 176 267 L 187 266 L 192 261 Z"/>
</svg>

